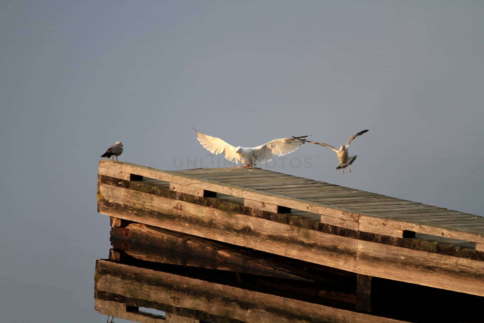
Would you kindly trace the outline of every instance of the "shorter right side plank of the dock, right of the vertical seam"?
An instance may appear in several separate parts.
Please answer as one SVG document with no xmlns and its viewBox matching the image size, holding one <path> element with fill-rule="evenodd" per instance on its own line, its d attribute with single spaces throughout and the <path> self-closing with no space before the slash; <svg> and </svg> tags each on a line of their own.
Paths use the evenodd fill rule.
<svg viewBox="0 0 484 323">
<path fill-rule="evenodd" d="M 359 240 L 357 266 L 363 275 L 484 296 L 484 261 Z"/>
</svg>

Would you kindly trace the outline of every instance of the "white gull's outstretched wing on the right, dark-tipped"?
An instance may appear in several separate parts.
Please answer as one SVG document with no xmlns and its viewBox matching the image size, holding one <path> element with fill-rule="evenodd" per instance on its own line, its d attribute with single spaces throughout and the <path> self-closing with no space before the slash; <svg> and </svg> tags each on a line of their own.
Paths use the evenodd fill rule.
<svg viewBox="0 0 484 323">
<path fill-rule="evenodd" d="M 250 148 L 256 162 L 263 163 L 272 160 L 272 155 L 284 156 L 298 149 L 308 136 L 279 138 L 263 145 Z"/>
</svg>

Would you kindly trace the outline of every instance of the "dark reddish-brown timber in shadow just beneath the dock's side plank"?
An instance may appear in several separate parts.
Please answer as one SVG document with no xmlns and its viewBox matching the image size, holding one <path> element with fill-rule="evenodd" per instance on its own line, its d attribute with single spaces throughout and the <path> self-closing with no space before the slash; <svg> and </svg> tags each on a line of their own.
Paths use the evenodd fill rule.
<svg viewBox="0 0 484 323">
<path fill-rule="evenodd" d="M 127 240 L 134 243 L 126 244 Z M 126 254 L 144 261 L 297 280 L 310 277 L 309 273 L 300 268 L 281 267 L 276 265 L 275 261 L 268 261 L 271 256 L 255 258 L 253 253 L 240 247 L 140 223 L 132 223 L 126 228 L 111 229 L 111 244 Z"/>
</svg>

